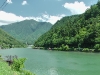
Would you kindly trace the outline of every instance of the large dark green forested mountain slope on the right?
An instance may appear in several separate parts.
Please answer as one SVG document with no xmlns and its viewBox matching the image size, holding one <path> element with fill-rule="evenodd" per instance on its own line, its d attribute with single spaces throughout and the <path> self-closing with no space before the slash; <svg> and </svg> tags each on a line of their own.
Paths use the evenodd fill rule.
<svg viewBox="0 0 100 75">
<path fill-rule="evenodd" d="M 80 15 L 72 15 L 57 21 L 34 44 L 37 47 L 60 50 L 100 50 L 100 1 Z M 74 48 L 74 49 L 69 49 Z"/>
</svg>

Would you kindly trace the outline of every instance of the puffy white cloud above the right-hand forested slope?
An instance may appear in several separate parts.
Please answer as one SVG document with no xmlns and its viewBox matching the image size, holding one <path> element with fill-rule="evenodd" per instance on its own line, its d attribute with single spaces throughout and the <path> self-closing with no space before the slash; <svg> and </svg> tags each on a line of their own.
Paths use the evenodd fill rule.
<svg viewBox="0 0 100 75">
<path fill-rule="evenodd" d="M 65 3 L 63 5 L 66 9 L 70 10 L 72 14 L 82 14 L 90 6 L 86 6 L 84 2 L 75 1 L 74 3 Z"/>
</svg>

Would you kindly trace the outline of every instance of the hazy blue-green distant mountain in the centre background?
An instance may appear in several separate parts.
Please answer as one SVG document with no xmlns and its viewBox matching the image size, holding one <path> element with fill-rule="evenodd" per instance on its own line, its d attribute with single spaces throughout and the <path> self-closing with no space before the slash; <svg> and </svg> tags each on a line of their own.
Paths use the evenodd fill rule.
<svg viewBox="0 0 100 75">
<path fill-rule="evenodd" d="M 47 32 L 52 24 L 47 22 L 37 22 L 35 20 L 24 20 L 21 22 L 3 25 L 1 28 L 8 32 L 17 40 L 33 44 L 39 36 Z"/>
</svg>

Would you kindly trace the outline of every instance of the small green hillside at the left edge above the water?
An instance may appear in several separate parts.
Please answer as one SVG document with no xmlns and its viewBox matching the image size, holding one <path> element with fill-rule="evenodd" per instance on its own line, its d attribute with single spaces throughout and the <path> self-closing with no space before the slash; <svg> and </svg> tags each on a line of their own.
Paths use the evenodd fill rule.
<svg viewBox="0 0 100 75">
<path fill-rule="evenodd" d="M 24 47 L 24 45 L 0 29 L 0 49 L 14 47 Z"/>
</svg>

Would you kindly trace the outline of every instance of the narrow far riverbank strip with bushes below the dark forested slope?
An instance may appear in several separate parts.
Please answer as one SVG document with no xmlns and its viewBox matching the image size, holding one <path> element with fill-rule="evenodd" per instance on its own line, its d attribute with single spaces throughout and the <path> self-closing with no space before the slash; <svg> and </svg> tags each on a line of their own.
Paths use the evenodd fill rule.
<svg viewBox="0 0 100 75">
<path fill-rule="evenodd" d="M 74 52 L 100 52 L 100 48 L 69 48 L 68 46 L 62 46 L 60 48 L 45 48 L 45 47 L 32 47 L 33 49 L 43 49 L 43 50 L 54 50 L 54 51 L 74 51 Z"/>
</svg>

